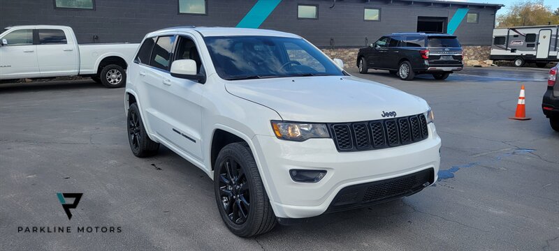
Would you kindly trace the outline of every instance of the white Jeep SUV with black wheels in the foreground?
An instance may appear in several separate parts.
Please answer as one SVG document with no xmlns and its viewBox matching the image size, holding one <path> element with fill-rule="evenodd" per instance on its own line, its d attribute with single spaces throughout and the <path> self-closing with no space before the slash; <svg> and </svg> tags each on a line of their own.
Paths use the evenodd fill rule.
<svg viewBox="0 0 559 251">
<path fill-rule="evenodd" d="M 427 102 L 347 74 L 300 36 L 162 29 L 145 36 L 128 71 L 133 154 L 163 144 L 201 168 L 238 236 L 437 180 L 441 140 Z"/>
</svg>

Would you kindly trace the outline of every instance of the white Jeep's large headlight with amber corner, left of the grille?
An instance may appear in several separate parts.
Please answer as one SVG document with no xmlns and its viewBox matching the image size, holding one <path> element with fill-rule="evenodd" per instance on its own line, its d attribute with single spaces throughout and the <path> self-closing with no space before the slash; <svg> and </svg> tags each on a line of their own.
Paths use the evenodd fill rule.
<svg viewBox="0 0 559 251">
<path fill-rule="evenodd" d="M 322 123 L 272 121 L 272 128 L 278 139 L 302 142 L 312 138 L 330 137 L 326 124 Z"/>
</svg>

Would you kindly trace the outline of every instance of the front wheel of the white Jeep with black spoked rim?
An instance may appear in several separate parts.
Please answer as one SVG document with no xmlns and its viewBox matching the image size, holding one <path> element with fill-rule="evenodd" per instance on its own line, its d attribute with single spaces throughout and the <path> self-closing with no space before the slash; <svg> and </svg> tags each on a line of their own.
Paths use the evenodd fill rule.
<svg viewBox="0 0 559 251">
<path fill-rule="evenodd" d="M 246 143 L 231 143 L 219 151 L 214 184 L 219 215 L 233 234 L 250 237 L 275 227 L 270 199 Z"/>
</svg>

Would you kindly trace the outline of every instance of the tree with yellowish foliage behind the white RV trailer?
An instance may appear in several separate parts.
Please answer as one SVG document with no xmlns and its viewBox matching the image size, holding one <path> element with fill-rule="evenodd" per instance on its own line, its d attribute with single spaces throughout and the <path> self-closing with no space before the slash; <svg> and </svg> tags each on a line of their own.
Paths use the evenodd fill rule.
<svg viewBox="0 0 559 251">
<path fill-rule="evenodd" d="M 499 27 L 559 24 L 559 8 L 553 11 L 543 0 L 518 1 L 497 22 Z"/>
</svg>

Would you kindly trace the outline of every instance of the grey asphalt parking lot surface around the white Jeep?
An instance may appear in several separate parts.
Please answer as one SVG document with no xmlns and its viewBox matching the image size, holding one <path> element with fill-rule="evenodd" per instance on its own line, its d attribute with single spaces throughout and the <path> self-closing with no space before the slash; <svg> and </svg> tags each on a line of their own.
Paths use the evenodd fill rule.
<svg viewBox="0 0 559 251">
<path fill-rule="evenodd" d="M 559 133 L 541 110 L 547 71 L 466 68 L 447 80 L 356 77 L 425 98 L 440 181 L 411 197 L 238 238 L 212 181 L 165 147 L 132 155 L 124 89 L 89 80 L 0 85 L 0 250 L 559 250 Z M 521 85 L 530 121 L 514 115 Z M 68 220 L 57 192 L 83 197 Z M 18 227 L 122 227 L 24 233 Z"/>
</svg>

